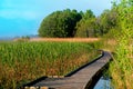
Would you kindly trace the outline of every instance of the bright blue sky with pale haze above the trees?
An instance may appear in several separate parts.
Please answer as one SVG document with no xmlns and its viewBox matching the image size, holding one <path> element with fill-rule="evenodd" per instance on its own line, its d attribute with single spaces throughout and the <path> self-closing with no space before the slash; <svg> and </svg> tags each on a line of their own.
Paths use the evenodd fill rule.
<svg viewBox="0 0 133 89">
<path fill-rule="evenodd" d="M 0 0 L 0 37 L 38 34 L 44 17 L 53 11 L 91 9 L 95 16 L 111 9 L 113 0 Z"/>
</svg>

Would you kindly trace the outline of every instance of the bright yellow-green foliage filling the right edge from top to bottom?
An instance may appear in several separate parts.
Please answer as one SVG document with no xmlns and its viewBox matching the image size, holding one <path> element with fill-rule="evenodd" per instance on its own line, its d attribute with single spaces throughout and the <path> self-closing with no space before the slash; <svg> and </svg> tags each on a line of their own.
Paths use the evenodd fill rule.
<svg viewBox="0 0 133 89">
<path fill-rule="evenodd" d="M 117 34 L 115 60 L 111 65 L 111 75 L 116 89 L 133 88 L 133 6 L 132 0 L 121 0 L 114 9 L 117 11 Z M 119 70 L 119 71 L 117 71 Z"/>
</svg>

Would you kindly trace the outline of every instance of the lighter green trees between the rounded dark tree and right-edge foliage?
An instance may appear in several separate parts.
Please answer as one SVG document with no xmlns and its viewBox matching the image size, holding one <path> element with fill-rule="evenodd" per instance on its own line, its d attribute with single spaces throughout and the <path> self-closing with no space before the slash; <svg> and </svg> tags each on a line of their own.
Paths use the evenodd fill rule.
<svg viewBox="0 0 133 89">
<path fill-rule="evenodd" d="M 100 37 L 116 28 L 117 12 L 115 9 L 104 10 L 100 17 L 94 17 L 91 10 L 82 14 L 82 19 L 76 23 L 75 37 Z"/>
</svg>

